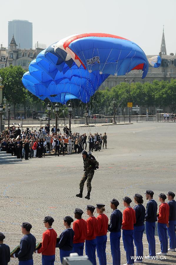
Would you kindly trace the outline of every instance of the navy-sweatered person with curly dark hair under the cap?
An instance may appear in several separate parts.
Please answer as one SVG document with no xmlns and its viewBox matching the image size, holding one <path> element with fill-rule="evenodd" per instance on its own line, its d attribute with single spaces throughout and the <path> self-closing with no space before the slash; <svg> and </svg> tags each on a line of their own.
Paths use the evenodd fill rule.
<svg viewBox="0 0 176 265">
<path fill-rule="evenodd" d="M 145 230 L 144 220 L 145 220 L 145 207 L 142 205 L 143 198 L 142 195 L 136 193 L 134 196 L 134 201 L 137 204 L 133 209 L 136 214 L 136 223 L 134 224 L 134 242 L 136 246 L 136 259 L 135 263 L 142 263 L 142 259 L 139 257 L 143 256 L 143 244 L 142 237 Z"/>
</svg>

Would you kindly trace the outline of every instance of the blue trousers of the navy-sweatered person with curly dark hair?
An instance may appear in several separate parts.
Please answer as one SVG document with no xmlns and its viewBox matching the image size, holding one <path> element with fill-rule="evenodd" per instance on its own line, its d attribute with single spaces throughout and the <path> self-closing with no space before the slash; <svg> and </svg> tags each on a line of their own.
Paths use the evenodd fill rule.
<svg viewBox="0 0 176 265">
<path fill-rule="evenodd" d="M 142 244 L 142 237 L 145 230 L 145 225 L 143 226 L 134 226 L 134 242 L 136 246 L 136 256 L 143 256 L 143 244 Z M 142 259 L 137 259 L 142 260 Z"/>
</svg>

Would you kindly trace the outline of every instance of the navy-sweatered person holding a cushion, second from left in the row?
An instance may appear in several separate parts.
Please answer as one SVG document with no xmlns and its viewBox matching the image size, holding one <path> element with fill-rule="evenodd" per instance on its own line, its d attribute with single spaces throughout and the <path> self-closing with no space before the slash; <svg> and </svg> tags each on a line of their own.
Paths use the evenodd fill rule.
<svg viewBox="0 0 176 265">
<path fill-rule="evenodd" d="M 11 258 L 18 258 L 19 265 L 33 265 L 32 255 L 36 248 L 36 238 L 30 233 L 31 228 L 30 223 L 22 223 L 21 232 L 24 236 L 20 241 L 20 251 L 11 255 Z"/>
</svg>

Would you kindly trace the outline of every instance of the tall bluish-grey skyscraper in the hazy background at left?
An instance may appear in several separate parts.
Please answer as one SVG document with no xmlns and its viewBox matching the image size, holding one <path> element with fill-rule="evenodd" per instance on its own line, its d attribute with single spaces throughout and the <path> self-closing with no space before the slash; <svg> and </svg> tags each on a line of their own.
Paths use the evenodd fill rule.
<svg viewBox="0 0 176 265">
<path fill-rule="evenodd" d="M 8 45 L 14 35 L 18 48 L 32 48 L 32 23 L 28 20 L 18 19 L 14 19 L 8 23 Z"/>
</svg>

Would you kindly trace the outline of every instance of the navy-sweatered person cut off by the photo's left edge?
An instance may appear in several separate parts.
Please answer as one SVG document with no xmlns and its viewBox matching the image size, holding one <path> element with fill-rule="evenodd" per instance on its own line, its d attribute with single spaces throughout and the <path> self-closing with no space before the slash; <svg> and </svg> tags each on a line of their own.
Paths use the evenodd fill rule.
<svg viewBox="0 0 176 265">
<path fill-rule="evenodd" d="M 5 236 L 0 232 L 0 264 L 7 265 L 10 261 L 10 248 L 7 244 L 4 244 Z"/>
</svg>

